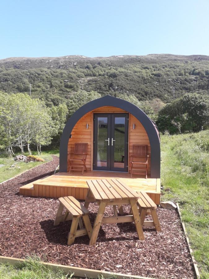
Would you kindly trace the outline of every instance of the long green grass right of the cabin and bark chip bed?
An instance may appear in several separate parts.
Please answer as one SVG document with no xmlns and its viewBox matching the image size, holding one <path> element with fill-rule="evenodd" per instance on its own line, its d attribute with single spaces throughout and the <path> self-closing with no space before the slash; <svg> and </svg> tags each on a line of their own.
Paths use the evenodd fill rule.
<svg viewBox="0 0 209 279">
<path fill-rule="evenodd" d="M 161 137 L 163 195 L 180 205 L 201 277 L 209 278 L 209 131 Z"/>
</svg>

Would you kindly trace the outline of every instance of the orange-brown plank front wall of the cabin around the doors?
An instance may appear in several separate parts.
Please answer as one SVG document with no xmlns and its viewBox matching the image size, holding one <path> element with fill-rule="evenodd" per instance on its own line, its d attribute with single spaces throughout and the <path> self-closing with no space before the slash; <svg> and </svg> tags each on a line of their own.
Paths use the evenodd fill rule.
<svg viewBox="0 0 209 279">
<path fill-rule="evenodd" d="M 86 158 L 87 170 L 92 170 L 92 155 L 93 155 L 93 114 L 94 113 L 127 113 L 125 110 L 120 108 L 115 108 L 111 106 L 104 106 L 97 108 L 87 114 L 85 114 L 74 126 L 72 130 L 72 137 L 68 142 L 68 154 L 73 153 L 74 144 L 76 142 L 88 143 L 88 155 Z M 89 128 L 86 129 L 86 124 L 89 124 Z M 135 124 L 135 129 L 133 129 L 133 123 Z M 129 114 L 129 154 L 132 152 L 133 144 L 147 144 L 148 153 L 150 155 L 150 142 L 146 130 L 142 126 L 141 122 L 137 120 L 132 114 Z M 151 156 L 151 155 L 150 155 Z M 69 155 L 68 155 L 69 157 Z M 69 163 L 67 166 L 67 171 L 69 171 Z M 130 172 L 130 170 L 129 170 Z M 150 175 L 150 157 L 149 157 L 149 170 L 148 175 Z"/>
</svg>

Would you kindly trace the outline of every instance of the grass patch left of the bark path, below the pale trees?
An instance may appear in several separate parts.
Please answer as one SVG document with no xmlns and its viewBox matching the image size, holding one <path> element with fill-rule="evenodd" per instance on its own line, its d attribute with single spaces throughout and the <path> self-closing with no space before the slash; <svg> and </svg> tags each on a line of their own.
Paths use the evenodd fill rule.
<svg viewBox="0 0 209 279">
<path fill-rule="evenodd" d="M 41 155 L 37 155 L 37 152 L 32 152 L 32 155 L 37 155 L 38 157 L 44 159 L 44 162 L 15 162 L 13 158 L 8 157 L 0 157 L 0 165 L 3 164 L 4 166 L 0 167 L 0 183 L 14 177 L 15 175 L 18 175 L 25 170 L 29 170 L 35 166 L 38 166 L 40 164 L 49 162 L 52 160 L 51 155 L 59 156 L 59 150 L 54 149 L 50 151 L 43 151 Z M 19 154 L 16 154 L 19 155 Z M 27 156 L 28 153 L 25 153 Z M 11 167 L 11 165 L 15 165 L 15 167 Z"/>
</svg>

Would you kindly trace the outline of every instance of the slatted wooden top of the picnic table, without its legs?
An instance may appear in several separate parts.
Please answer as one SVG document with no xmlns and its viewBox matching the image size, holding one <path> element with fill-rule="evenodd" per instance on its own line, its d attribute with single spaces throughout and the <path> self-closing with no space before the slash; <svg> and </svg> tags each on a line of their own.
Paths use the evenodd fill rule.
<svg viewBox="0 0 209 279">
<path fill-rule="evenodd" d="M 140 197 L 120 179 L 90 179 L 86 183 L 95 201 L 138 200 Z"/>
</svg>

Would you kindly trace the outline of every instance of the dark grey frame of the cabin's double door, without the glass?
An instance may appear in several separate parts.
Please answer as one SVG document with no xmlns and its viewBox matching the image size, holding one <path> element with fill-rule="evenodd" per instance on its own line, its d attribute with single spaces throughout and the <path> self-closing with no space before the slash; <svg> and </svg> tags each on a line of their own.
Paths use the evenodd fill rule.
<svg viewBox="0 0 209 279">
<path fill-rule="evenodd" d="M 103 171 L 116 171 L 116 172 L 128 172 L 128 113 L 94 113 L 94 139 L 93 139 L 93 170 L 103 170 Z M 98 117 L 107 117 L 107 139 L 110 139 L 110 144 L 107 141 L 107 167 L 97 166 L 97 129 L 98 129 Z M 124 168 L 114 167 L 114 148 L 115 141 L 113 145 L 111 139 L 115 139 L 115 117 L 125 117 L 125 135 L 124 135 Z"/>
</svg>

